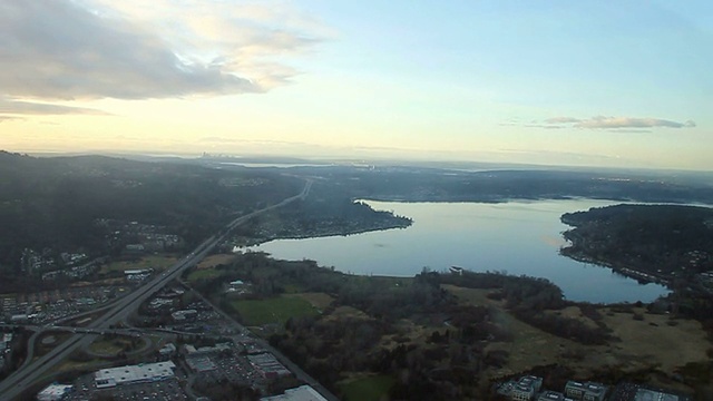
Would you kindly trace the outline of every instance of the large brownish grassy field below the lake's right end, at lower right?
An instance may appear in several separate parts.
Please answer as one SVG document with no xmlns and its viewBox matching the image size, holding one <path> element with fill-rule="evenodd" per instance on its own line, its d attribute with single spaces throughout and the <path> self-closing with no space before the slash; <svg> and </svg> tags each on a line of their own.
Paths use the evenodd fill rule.
<svg viewBox="0 0 713 401">
<path fill-rule="evenodd" d="M 632 307 L 631 312 L 599 307 L 603 323 L 621 341 L 615 340 L 606 345 L 583 345 L 518 321 L 500 302 L 488 300 L 486 290 L 452 285 L 443 287 L 463 303 L 494 307 L 494 323 L 512 334 L 511 342 L 488 344 L 488 351 L 504 350 L 509 353 L 507 364 L 492 371 L 490 376 L 514 374 L 547 364 L 566 364 L 585 376 L 615 366 L 623 371 L 657 368 L 671 373 L 688 362 L 707 361 L 706 350 L 712 348 L 699 322 L 676 320 L 675 325 L 668 325 L 668 315 L 647 314 L 643 307 Z M 577 306 L 551 313 L 596 326 Z M 635 320 L 635 313 L 643 320 Z"/>
</svg>

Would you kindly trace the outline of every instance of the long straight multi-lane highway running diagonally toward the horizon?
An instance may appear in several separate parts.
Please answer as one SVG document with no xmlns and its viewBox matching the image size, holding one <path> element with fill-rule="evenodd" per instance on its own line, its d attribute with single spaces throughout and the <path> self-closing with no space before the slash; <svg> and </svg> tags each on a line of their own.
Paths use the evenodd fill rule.
<svg viewBox="0 0 713 401">
<path fill-rule="evenodd" d="M 225 237 L 229 235 L 231 229 L 246 223 L 252 217 L 255 217 L 262 213 L 283 207 L 292 202 L 304 199 L 312 187 L 312 180 L 307 180 L 304 184 L 302 192 L 295 196 L 291 196 L 275 205 L 267 206 L 265 208 L 248 213 L 244 216 L 237 217 L 228 223 L 224 229 L 223 235 L 214 235 L 198 245 L 191 254 L 183 260 L 178 261 L 170 268 L 162 273 L 158 277 L 155 277 L 144 285 L 135 290 L 133 293 L 126 295 L 119 300 L 113 307 L 108 310 L 101 317 L 96 319 L 87 325 L 87 329 L 101 329 L 107 327 L 110 324 L 125 320 L 130 313 L 136 311 L 138 306 L 150 297 L 158 290 L 163 288 L 174 278 L 180 276 L 180 274 L 188 267 L 196 265 L 201 262 L 213 247 L 221 243 Z M 98 334 L 75 334 L 61 344 L 57 345 L 52 351 L 48 352 L 43 356 L 26 363 L 21 369 L 6 378 L 0 382 L 0 401 L 12 400 L 18 397 L 28 387 L 32 385 L 38 379 L 42 378 L 47 371 L 56 365 L 59 361 L 69 356 L 78 348 L 84 348 L 95 341 Z M 29 346 L 28 346 L 29 349 Z"/>
</svg>

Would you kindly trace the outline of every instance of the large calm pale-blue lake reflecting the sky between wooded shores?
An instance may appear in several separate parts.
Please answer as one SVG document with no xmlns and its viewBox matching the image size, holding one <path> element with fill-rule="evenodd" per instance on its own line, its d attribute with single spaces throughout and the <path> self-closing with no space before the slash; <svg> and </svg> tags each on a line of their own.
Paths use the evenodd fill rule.
<svg viewBox="0 0 713 401">
<path fill-rule="evenodd" d="M 423 267 L 446 271 L 451 265 L 526 274 L 551 281 L 573 301 L 649 302 L 668 292 L 559 255 L 565 245 L 561 233 L 568 228 L 559 222 L 561 214 L 616 202 L 368 203 L 374 209 L 411 217 L 413 225 L 349 236 L 277 239 L 252 250 L 363 275 L 412 276 Z"/>
</svg>

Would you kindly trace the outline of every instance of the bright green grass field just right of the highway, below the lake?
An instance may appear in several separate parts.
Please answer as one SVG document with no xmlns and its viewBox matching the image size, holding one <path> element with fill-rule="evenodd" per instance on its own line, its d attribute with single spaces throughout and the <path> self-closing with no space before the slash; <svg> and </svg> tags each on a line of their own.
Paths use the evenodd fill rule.
<svg viewBox="0 0 713 401">
<path fill-rule="evenodd" d="M 279 296 L 267 300 L 241 300 L 231 303 L 248 326 L 276 323 L 284 326 L 290 317 L 318 314 L 310 302 L 299 297 Z"/>
</svg>

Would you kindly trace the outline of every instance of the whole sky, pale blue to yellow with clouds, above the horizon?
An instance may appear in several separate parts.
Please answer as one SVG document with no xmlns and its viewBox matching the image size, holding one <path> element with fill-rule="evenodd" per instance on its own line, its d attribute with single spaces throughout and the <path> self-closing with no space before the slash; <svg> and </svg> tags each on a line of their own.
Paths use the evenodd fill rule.
<svg viewBox="0 0 713 401">
<path fill-rule="evenodd" d="M 0 149 L 713 170 L 713 2 L 2 0 Z"/>
</svg>

